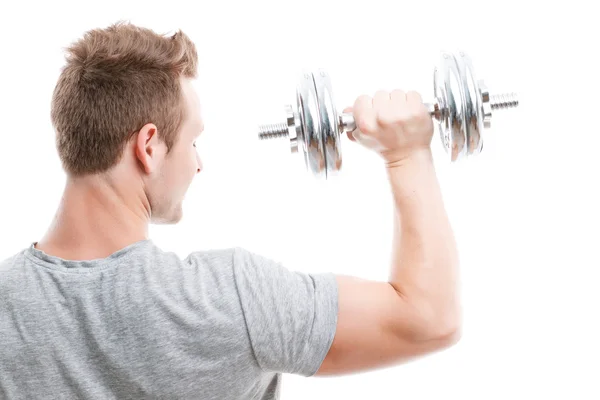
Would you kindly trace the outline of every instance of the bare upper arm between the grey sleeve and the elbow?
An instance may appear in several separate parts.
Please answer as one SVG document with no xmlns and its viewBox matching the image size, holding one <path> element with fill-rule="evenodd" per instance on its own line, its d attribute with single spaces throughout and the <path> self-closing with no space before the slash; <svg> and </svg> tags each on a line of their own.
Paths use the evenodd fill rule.
<svg viewBox="0 0 600 400">
<path fill-rule="evenodd" d="M 391 366 L 431 352 L 418 340 L 426 319 L 388 282 L 337 276 L 339 307 L 333 343 L 316 375 Z"/>
</svg>

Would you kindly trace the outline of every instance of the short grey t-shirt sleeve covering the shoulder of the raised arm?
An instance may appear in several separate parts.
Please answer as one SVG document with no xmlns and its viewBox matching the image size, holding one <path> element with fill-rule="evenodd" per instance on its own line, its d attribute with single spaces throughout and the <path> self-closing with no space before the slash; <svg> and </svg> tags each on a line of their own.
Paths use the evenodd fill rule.
<svg viewBox="0 0 600 400">
<path fill-rule="evenodd" d="M 335 275 L 291 271 L 236 248 L 234 278 L 260 367 L 268 372 L 314 375 L 335 336 Z"/>
</svg>

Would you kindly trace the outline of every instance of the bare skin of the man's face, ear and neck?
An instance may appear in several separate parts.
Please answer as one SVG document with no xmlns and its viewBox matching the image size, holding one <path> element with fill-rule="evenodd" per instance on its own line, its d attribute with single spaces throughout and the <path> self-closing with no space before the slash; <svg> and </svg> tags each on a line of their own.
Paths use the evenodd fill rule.
<svg viewBox="0 0 600 400">
<path fill-rule="evenodd" d="M 104 258 L 147 239 L 152 223 L 181 220 L 185 194 L 202 171 L 195 142 L 204 130 L 192 81 L 181 79 L 181 87 L 187 117 L 171 152 L 148 123 L 110 171 L 67 177 L 54 220 L 36 248 L 71 260 Z"/>
</svg>

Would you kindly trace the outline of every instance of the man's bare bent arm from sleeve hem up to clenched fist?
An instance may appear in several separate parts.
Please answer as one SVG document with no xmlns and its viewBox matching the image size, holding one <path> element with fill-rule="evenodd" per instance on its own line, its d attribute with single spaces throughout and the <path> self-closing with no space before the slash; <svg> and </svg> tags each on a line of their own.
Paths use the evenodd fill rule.
<svg viewBox="0 0 600 400">
<path fill-rule="evenodd" d="M 407 137 L 419 134 L 418 129 L 425 130 L 421 140 L 430 140 L 432 127 L 425 124 L 425 118 L 430 117 L 418 106 L 422 106 L 418 96 L 412 96 L 412 105 L 394 105 L 404 107 L 408 115 L 388 118 L 387 125 L 380 112 L 385 105 L 379 110 L 363 106 L 358 117 L 364 118 L 357 120 L 361 131 L 369 131 L 369 116 L 378 116 L 379 125 L 384 121 L 380 134 L 392 135 L 398 126 L 404 126 L 399 136 L 406 140 L 408 150 L 411 138 Z M 375 106 L 376 101 L 377 97 Z M 376 139 L 381 144 L 388 138 Z M 376 282 L 337 277 L 336 334 L 317 372 L 320 376 L 395 365 L 446 348 L 460 334 L 458 255 L 431 151 L 421 146 L 404 152 L 397 160 L 390 156 L 386 158 L 386 172 L 395 205 L 390 278 L 388 282 Z"/>
</svg>

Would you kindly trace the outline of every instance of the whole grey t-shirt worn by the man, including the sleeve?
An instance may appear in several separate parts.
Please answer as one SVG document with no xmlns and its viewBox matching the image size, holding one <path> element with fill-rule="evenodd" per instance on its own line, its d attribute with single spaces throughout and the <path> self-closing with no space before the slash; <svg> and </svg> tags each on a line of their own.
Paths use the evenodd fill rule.
<svg viewBox="0 0 600 400">
<path fill-rule="evenodd" d="M 0 398 L 277 399 L 282 373 L 319 369 L 337 296 L 333 274 L 240 247 L 72 261 L 32 243 L 0 263 Z"/>
</svg>

